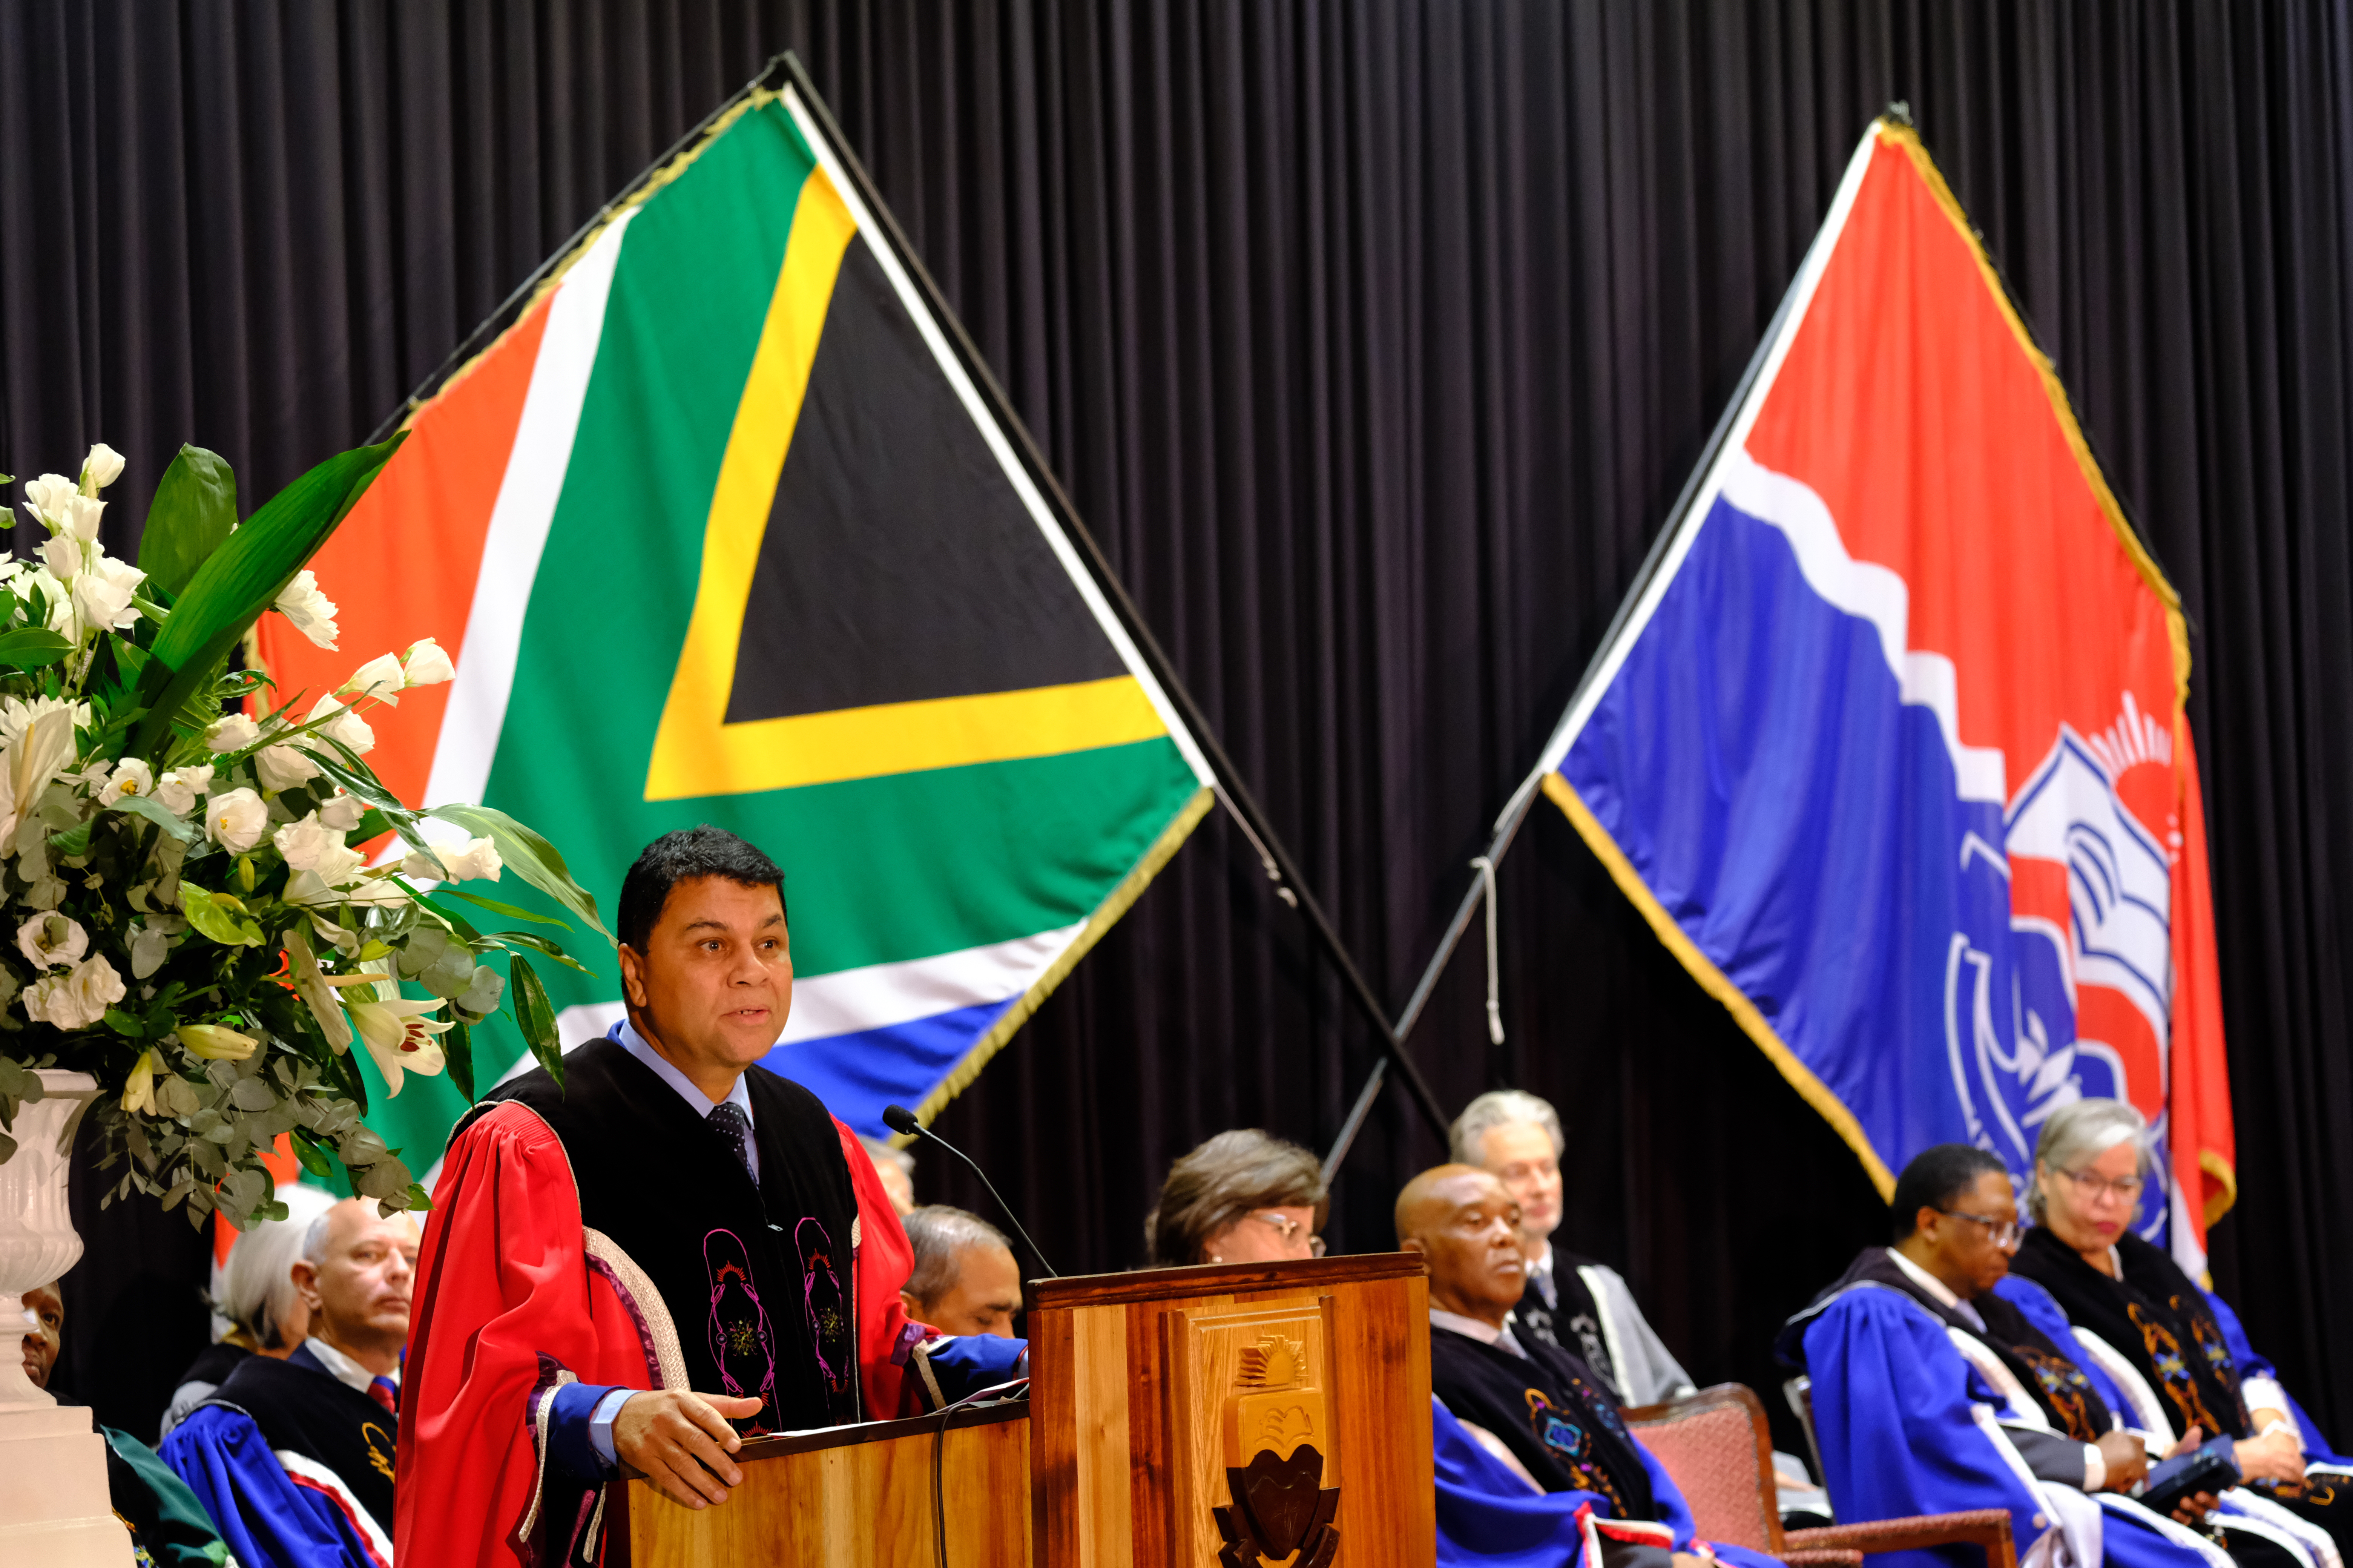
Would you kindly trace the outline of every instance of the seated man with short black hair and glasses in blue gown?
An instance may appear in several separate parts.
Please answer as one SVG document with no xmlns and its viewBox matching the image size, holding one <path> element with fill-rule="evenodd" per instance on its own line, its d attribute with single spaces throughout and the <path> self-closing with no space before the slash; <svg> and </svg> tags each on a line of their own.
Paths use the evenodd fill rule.
<svg viewBox="0 0 2353 1568">
<path fill-rule="evenodd" d="M 2212 1493 L 2186 1500 L 2181 1519 L 2127 1495 L 2148 1453 L 2118 1429 L 2057 1309 L 1993 1293 L 2019 1245 L 2002 1163 L 1965 1144 L 1927 1149 L 1897 1180 L 1892 1231 L 1894 1245 L 1864 1248 L 1777 1344 L 1812 1377 L 1838 1519 L 2002 1507 L 2028 1566 L 2228 1568 L 2186 1528 Z"/>
</svg>

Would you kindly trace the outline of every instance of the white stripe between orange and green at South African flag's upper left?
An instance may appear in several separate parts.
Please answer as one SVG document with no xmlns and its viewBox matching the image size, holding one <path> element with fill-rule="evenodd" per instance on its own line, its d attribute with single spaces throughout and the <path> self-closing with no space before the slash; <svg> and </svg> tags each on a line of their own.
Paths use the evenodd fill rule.
<svg viewBox="0 0 2353 1568">
<path fill-rule="evenodd" d="M 555 501 L 572 466 L 588 374 L 605 337 L 605 301 L 621 259 L 621 235 L 638 217 L 631 207 L 565 273 L 548 301 L 548 325 L 539 337 L 532 388 L 522 398 L 515 445 L 499 480 L 499 501 L 482 537 L 482 570 L 473 579 L 466 645 L 449 685 L 449 711 L 433 746 L 426 782 L 431 805 L 475 803 L 489 779 L 506 725 L 506 699 L 515 687 L 515 655 L 522 647 L 522 612 L 532 605 L 539 553 L 548 544 Z"/>
</svg>

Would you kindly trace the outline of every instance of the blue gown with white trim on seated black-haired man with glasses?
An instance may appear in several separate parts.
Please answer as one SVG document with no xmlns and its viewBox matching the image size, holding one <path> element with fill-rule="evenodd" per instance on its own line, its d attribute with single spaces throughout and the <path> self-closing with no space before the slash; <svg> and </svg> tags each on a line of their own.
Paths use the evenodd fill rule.
<svg viewBox="0 0 2353 1568">
<path fill-rule="evenodd" d="M 2028 1316 L 2052 1333 L 2038 1314 Z M 2052 1337 L 2073 1349 L 2071 1337 Z M 1805 1323 L 1802 1347 L 1824 1486 L 1840 1523 L 2007 1509 L 2021 1563 L 2052 1530 L 2064 1530 L 2080 1563 L 2097 1556 L 2115 1568 L 2231 1568 L 2212 1542 L 2115 1493 L 2035 1481 L 2000 1431 L 2002 1422 L 2035 1424 L 2035 1415 L 2012 1410 L 1955 1349 L 1946 1326 L 1901 1290 L 1861 1283 L 1831 1297 Z M 1958 1568 L 1979 1554 L 1929 1547 L 1871 1561 Z"/>
</svg>

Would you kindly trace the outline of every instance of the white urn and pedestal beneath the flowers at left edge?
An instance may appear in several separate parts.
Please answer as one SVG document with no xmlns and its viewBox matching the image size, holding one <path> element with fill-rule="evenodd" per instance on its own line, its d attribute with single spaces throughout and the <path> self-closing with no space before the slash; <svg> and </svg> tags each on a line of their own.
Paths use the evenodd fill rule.
<svg viewBox="0 0 2353 1568">
<path fill-rule="evenodd" d="M 99 1095 L 89 1074 L 40 1074 L 0 1163 L 0 1568 L 127 1568 L 132 1540 L 106 1495 L 106 1439 L 89 1410 L 59 1406 L 24 1375 L 19 1340 L 38 1318 L 24 1293 L 82 1255 L 66 1210 L 66 1156 Z"/>
</svg>

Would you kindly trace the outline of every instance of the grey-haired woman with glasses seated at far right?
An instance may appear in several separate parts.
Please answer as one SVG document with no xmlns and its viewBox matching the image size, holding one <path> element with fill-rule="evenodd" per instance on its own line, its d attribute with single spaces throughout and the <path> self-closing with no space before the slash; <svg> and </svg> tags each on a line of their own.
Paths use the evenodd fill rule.
<svg viewBox="0 0 2353 1568">
<path fill-rule="evenodd" d="M 2191 1429 L 2235 1439 L 2245 1488 L 2226 1507 L 2306 1542 L 2320 1526 L 2346 1547 L 2353 1490 L 2344 1502 L 2339 1490 L 2353 1471 L 2247 1344 L 2238 1314 L 2134 1234 L 2146 1187 L 2148 1123 L 2137 1109 L 2122 1099 L 2061 1107 L 2035 1144 L 2026 1212 L 2038 1224 L 2012 1269 L 2059 1302 L 2094 1363 L 2087 1370 L 2106 1375 L 2151 1448 L 2172 1448 Z"/>
</svg>

